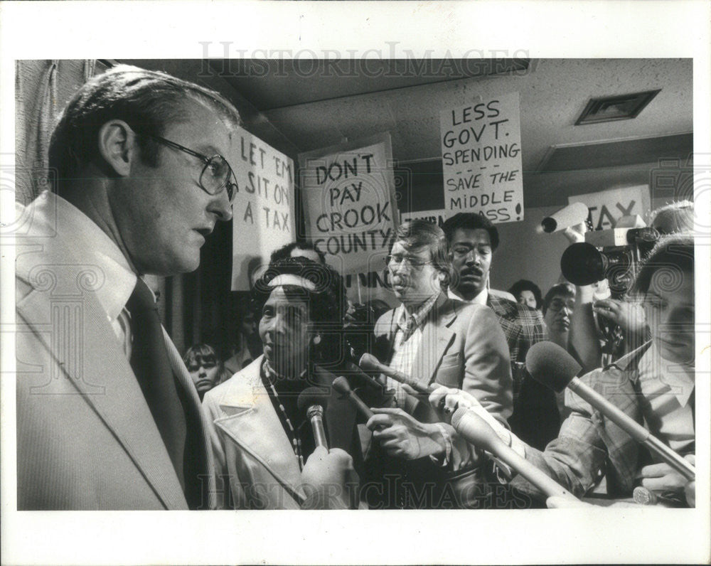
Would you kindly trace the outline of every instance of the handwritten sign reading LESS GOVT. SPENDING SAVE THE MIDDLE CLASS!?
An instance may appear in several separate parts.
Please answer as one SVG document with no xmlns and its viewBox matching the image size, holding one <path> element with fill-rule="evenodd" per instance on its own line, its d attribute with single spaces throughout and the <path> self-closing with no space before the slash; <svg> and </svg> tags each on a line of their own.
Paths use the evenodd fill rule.
<svg viewBox="0 0 711 566">
<path fill-rule="evenodd" d="M 523 220 L 518 92 L 439 113 L 444 208 L 493 223 Z"/>
</svg>

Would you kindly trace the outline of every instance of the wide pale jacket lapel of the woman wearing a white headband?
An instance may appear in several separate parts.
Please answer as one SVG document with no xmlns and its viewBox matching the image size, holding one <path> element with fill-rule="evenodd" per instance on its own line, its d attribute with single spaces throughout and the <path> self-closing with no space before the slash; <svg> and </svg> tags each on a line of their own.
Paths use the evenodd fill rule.
<svg viewBox="0 0 711 566">
<path fill-rule="evenodd" d="M 218 401 L 225 416 L 216 419 L 215 425 L 259 461 L 297 501 L 303 501 L 299 464 L 260 379 L 261 366 L 260 356 L 244 379 L 230 380 L 230 387 Z"/>
</svg>

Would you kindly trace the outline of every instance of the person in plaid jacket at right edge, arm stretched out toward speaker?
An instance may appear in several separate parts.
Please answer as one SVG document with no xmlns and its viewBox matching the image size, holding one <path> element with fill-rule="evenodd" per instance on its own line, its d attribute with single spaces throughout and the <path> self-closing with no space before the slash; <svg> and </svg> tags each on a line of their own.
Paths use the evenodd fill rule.
<svg viewBox="0 0 711 566">
<path fill-rule="evenodd" d="M 641 300 L 651 340 L 606 368 L 584 375 L 584 383 L 607 399 L 670 448 L 695 461 L 694 424 L 694 242 L 691 235 L 661 240 L 641 268 L 633 288 Z M 442 398 L 447 420 L 458 405 L 474 408 L 474 397 L 439 388 L 430 396 L 434 407 Z M 695 503 L 695 484 L 650 455 L 615 424 L 580 397 L 566 391 L 572 414 L 557 439 L 540 452 L 498 427 L 498 434 L 525 459 L 545 471 L 576 496 L 583 496 L 604 475 L 609 496 L 629 497 L 640 484 L 651 491 Z M 489 420 L 496 427 L 493 419 Z M 540 496 L 528 481 L 516 476 L 516 488 Z M 552 502 L 549 502 L 552 505 Z"/>
</svg>

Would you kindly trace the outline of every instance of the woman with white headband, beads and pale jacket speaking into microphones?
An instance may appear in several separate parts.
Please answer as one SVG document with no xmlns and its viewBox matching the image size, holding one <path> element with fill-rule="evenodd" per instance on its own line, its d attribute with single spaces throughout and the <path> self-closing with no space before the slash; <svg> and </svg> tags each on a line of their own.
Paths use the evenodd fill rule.
<svg viewBox="0 0 711 566">
<path fill-rule="evenodd" d="M 342 359 L 343 280 L 326 265 L 291 257 L 270 264 L 253 294 L 264 354 L 203 402 L 218 489 L 222 484 L 224 490 L 220 507 L 348 507 L 352 499 L 344 485 L 357 476 L 341 448 L 357 454 L 355 415 L 345 400 L 328 396 L 334 376 L 324 369 Z M 297 402 L 314 386 L 326 394 L 330 451 L 314 449 L 311 424 Z M 314 503 L 324 486 L 328 497 Z"/>
</svg>

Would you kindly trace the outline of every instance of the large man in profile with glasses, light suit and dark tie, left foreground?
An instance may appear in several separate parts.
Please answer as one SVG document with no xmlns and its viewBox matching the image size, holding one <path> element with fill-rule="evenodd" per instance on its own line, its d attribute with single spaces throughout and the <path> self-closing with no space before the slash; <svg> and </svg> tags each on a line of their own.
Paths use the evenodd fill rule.
<svg viewBox="0 0 711 566">
<path fill-rule="evenodd" d="M 18 205 L 18 508 L 208 508 L 195 387 L 141 279 L 190 272 L 232 216 L 240 118 L 216 92 L 120 66 L 65 108 L 53 192 Z"/>
</svg>

